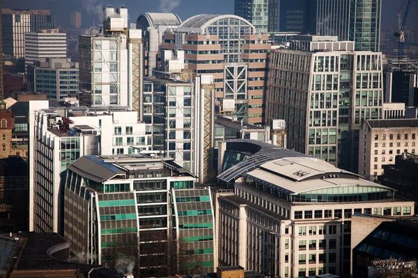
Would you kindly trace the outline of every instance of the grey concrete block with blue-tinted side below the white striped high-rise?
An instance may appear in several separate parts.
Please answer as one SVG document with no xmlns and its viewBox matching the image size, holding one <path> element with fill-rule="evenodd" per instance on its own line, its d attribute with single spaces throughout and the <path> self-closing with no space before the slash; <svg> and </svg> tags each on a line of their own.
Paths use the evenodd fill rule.
<svg viewBox="0 0 418 278">
<path fill-rule="evenodd" d="M 79 64 L 71 58 L 36 60 L 27 67 L 28 90 L 47 94 L 48 99 L 63 100 L 79 92 Z"/>
</svg>

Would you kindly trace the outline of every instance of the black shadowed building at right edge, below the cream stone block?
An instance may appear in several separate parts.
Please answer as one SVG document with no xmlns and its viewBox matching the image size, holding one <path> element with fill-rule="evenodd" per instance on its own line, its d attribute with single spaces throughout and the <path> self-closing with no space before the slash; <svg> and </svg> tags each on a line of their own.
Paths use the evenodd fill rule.
<svg viewBox="0 0 418 278">
<path fill-rule="evenodd" d="M 394 163 L 382 165 L 383 172 L 378 176 L 378 182 L 396 190 L 396 195 L 408 198 L 418 206 L 418 157 L 416 154 L 398 154 Z"/>
</svg>

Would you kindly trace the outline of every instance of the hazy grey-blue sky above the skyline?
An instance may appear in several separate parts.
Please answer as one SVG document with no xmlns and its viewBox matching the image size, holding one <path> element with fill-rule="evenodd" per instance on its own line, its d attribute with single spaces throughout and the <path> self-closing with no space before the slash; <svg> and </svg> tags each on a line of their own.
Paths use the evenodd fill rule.
<svg viewBox="0 0 418 278">
<path fill-rule="evenodd" d="M 130 14 L 130 22 L 141 13 L 173 12 L 185 20 L 201 13 L 233 14 L 233 0 L 3 0 L 3 8 L 50 9 L 56 15 L 57 24 L 68 26 L 73 10 L 82 12 L 83 26 L 98 24 L 98 15 L 107 4 L 114 7 L 125 5 Z M 382 0 L 382 30 L 392 31 L 397 26 L 396 13 L 407 0 Z M 418 0 L 412 0 L 406 29 L 415 29 L 418 36 Z"/>
</svg>

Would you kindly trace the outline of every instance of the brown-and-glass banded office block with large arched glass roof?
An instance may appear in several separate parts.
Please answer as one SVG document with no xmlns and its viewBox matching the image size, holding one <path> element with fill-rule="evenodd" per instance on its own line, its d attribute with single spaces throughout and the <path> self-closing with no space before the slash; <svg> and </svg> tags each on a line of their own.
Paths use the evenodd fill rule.
<svg viewBox="0 0 418 278">
<path fill-rule="evenodd" d="M 185 51 L 185 68 L 215 77 L 215 103 L 221 113 L 262 124 L 268 40 L 242 17 L 196 15 L 165 33 L 162 47 Z"/>
</svg>

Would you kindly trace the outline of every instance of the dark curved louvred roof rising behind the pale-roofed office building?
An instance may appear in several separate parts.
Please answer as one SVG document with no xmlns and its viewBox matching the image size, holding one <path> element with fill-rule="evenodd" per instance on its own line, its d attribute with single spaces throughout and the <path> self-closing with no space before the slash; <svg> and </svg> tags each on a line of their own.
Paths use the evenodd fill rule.
<svg viewBox="0 0 418 278">
<path fill-rule="evenodd" d="M 249 154 L 249 158 L 233 165 L 217 176 L 221 181 L 227 183 L 235 181 L 242 174 L 254 170 L 256 167 L 268 161 L 274 161 L 284 157 L 307 157 L 305 154 L 295 152 L 291 149 L 282 149 L 267 142 L 250 139 L 226 140 L 226 152 L 241 152 Z"/>
</svg>

